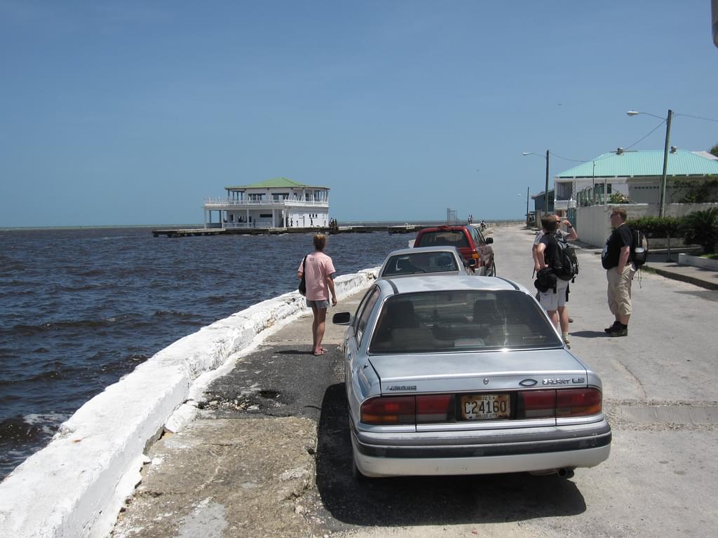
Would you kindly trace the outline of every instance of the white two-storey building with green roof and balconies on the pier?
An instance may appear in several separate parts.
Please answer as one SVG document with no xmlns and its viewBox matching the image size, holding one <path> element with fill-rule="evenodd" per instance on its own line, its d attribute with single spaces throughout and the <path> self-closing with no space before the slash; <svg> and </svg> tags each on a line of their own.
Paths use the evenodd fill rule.
<svg viewBox="0 0 718 538">
<path fill-rule="evenodd" d="M 225 187 L 226 198 L 205 200 L 207 228 L 311 228 L 329 226 L 329 189 L 278 177 Z"/>
</svg>

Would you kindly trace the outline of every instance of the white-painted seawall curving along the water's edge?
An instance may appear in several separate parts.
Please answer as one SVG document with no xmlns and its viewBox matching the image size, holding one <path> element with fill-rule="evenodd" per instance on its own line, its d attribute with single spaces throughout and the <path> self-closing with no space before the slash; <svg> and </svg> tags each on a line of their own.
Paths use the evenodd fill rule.
<svg viewBox="0 0 718 538">
<path fill-rule="evenodd" d="M 338 298 L 367 288 L 377 270 L 338 277 Z M 149 440 L 168 421 L 177 431 L 191 420 L 202 390 L 238 353 L 308 312 L 296 291 L 253 305 L 175 341 L 86 402 L 0 483 L 0 536 L 105 537 L 139 483 Z"/>
</svg>

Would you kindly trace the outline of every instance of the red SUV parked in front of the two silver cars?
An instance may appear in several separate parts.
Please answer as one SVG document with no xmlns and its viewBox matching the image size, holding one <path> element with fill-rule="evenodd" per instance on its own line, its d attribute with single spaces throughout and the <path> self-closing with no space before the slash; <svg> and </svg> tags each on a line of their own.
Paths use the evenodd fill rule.
<svg viewBox="0 0 718 538">
<path fill-rule="evenodd" d="M 484 237 L 474 226 L 439 226 L 419 230 L 415 247 L 457 247 L 475 273 L 496 276 L 493 237 Z"/>
</svg>

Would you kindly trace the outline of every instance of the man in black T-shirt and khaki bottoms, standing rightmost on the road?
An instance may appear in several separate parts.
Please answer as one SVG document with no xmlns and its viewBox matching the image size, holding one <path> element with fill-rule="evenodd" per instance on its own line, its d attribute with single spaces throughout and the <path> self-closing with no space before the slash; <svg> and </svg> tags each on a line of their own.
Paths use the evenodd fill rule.
<svg viewBox="0 0 718 538">
<path fill-rule="evenodd" d="M 630 261 L 631 232 L 625 223 L 627 217 L 623 207 L 611 212 L 613 232 L 601 253 L 601 263 L 608 280 L 608 308 L 615 318 L 613 325 L 604 329 L 608 336 L 628 336 L 628 320 L 631 315 L 630 286 L 636 269 Z"/>
</svg>

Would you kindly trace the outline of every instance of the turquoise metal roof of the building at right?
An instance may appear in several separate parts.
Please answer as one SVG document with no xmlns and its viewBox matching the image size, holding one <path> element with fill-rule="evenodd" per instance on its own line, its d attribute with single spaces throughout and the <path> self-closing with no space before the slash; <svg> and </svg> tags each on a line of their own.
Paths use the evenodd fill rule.
<svg viewBox="0 0 718 538">
<path fill-rule="evenodd" d="M 612 151 L 579 164 L 556 179 L 595 177 L 656 177 L 663 174 L 663 150 Z M 718 161 L 706 159 L 685 149 L 668 154 L 666 176 L 708 176 L 718 174 Z"/>
</svg>

